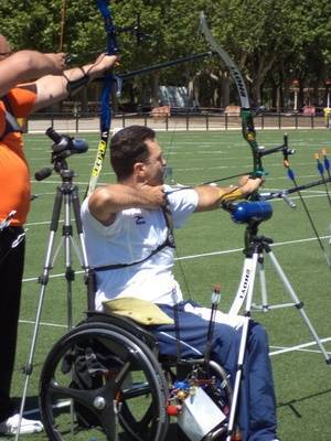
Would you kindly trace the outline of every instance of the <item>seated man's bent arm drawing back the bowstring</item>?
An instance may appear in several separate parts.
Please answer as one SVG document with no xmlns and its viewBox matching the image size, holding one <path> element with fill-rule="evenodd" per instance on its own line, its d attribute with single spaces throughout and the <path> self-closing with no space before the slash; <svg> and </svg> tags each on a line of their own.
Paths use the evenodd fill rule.
<svg viewBox="0 0 331 441">
<path fill-rule="evenodd" d="M 104 225 L 115 220 L 126 208 L 158 209 L 166 203 L 163 186 L 111 184 L 97 189 L 88 201 L 92 215 Z"/>
</svg>

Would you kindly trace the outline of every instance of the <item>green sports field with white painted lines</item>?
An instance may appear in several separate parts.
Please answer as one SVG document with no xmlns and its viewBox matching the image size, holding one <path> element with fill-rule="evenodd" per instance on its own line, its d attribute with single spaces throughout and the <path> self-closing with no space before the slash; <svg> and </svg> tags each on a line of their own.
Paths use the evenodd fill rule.
<svg viewBox="0 0 331 441">
<path fill-rule="evenodd" d="M 56 129 L 56 127 L 55 127 Z M 289 131 L 289 146 L 296 149 L 290 157 L 292 169 L 299 184 L 319 179 L 313 158 L 322 148 L 331 155 L 331 132 L 325 130 Z M 75 183 L 83 196 L 89 180 L 90 169 L 98 143 L 97 135 L 79 133 L 89 143 L 84 154 L 75 154 L 68 163 L 75 171 Z M 159 140 L 163 146 L 168 165 L 172 168 L 172 179 L 188 185 L 217 180 L 223 176 L 248 172 L 252 169 L 252 154 L 239 131 L 227 132 L 161 132 Z M 258 133 L 259 142 L 266 148 L 282 142 L 282 132 L 265 130 Z M 50 164 L 50 140 L 43 135 L 25 137 L 26 154 L 31 174 Z M 108 154 L 99 182 L 114 181 L 108 164 Z M 281 154 L 266 157 L 268 171 L 265 190 L 292 186 L 282 168 Z M 14 179 L 14 176 L 13 176 Z M 45 250 L 49 240 L 49 226 L 58 175 L 53 173 L 43 182 L 33 179 L 32 202 L 26 224 L 26 263 L 23 283 L 23 300 L 19 333 L 13 395 L 20 397 L 23 389 L 25 365 L 36 315 L 40 286 L 36 278 L 42 273 Z M 234 180 L 227 182 L 234 183 Z M 331 185 L 329 185 L 331 191 Z M 330 251 L 331 206 L 324 186 L 305 191 L 305 201 L 323 237 L 327 251 Z M 331 270 L 325 263 L 319 244 L 309 225 L 297 195 L 297 204 L 290 208 L 282 201 L 274 201 L 273 218 L 260 225 L 260 234 L 274 239 L 273 248 L 281 268 L 300 300 L 305 311 L 324 341 L 324 347 L 331 354 Z M 63 219 L 63 215 L 61 216 Z M 62 239 L 62 223 L 56 238 L 57 248 Z M 245 225 L 237 225 L 229 215 L 220 209 L 196 214 L 183 230 L 177 233 L 178 261 L 177 276 L 183 283 L 186 297 L 210 304 L 210 294 L 214 283 L 222 284 L 221 309 L 227 311 L 236 292 L 244 261 L 243 238 Z M 75 250 L 73 249 L 75 255 Z M 76 257 L 73 258 L 76 279 L 73 282 L 73 322 L 77 323 L 86 309 L 86 290 L 82 269 Z M 33 408 L 38 397 L 40 368 L 55 341 L 66 332 L 67 289 L 63 277 L 64 247 L 60 244 L 52 278 L 46 288 L 42 320 L 34 356 L 34 372 L 29 386 L 28 408 Z M 289 295 L 270 263 L 266 260 L 268 300 L 271 304 L 289 302 Z M 259 282 L 256 280 L 255 301 L 260 302 Z M 265 324 L 269 333 L 270 355 L 274 366 L 279 437 L 282 441 L 331 440 L 331 365 L 327 365 L 319 353 L 305 321 L 293 308 L 276 309 L 267 313 L 254 312 L 254 319 Z M 297 347 L 297 346 L 300 347 Z M 284 351 L 289 349 L 289 351 Z M 22 437 L 22 439 L 32 439 Z M 44 440 L 45 435 L 33 435 Z M 75 438 L 79 440 L 79 437 Z M 103 439 L 103 438 L 100 438 Z"/>
</svg>

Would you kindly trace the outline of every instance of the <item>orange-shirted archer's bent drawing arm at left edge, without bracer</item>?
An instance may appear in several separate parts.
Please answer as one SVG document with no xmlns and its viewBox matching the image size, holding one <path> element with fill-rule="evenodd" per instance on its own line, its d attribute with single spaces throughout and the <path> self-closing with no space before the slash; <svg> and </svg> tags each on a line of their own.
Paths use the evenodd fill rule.
<svg viewBox="0 0 331 441">
<path fill-rule="evenodd" d="M 0 62 L 0 96 L 21 83 L 44 75 L 61 75 L 64 54 L 42 54 L 36 51 L 20 51 Z"/>
</svg>

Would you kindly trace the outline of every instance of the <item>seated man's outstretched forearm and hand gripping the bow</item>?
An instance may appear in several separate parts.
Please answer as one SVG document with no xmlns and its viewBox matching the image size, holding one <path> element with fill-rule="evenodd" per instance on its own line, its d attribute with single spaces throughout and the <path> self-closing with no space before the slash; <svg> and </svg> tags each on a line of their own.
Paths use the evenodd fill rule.
<svg viewBox="0 0 331 441">
<path fill-rule="evenodd" d="M 196 186 L 194 190 L 197 193 L 199 202 L 195 212 L 206 212 L 220 207 L 223 201 L 235 201 L 248 196 L 255 192 L 263 180 L 259 178 L 242 178 L 239 185 L 229 185 L 226 187 L 218 187 L 213 185 Z"/>
</svg>

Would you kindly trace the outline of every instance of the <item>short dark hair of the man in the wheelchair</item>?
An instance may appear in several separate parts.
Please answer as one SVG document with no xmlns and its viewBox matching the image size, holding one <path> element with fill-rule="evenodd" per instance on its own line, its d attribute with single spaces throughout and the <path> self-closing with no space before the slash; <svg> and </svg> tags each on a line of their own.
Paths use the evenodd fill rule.
<svg viewBox="0 0 331 441">
<path fill-rule="evenodd" d="M 148 159 L 149 151 L 145 141 L 154 138 L 156 132 L 145 126 L 129 126 L 114 135 L 110 141 L 110 163 L 118 181 L 130 176 L 137 162 Z"/>
</svg>

